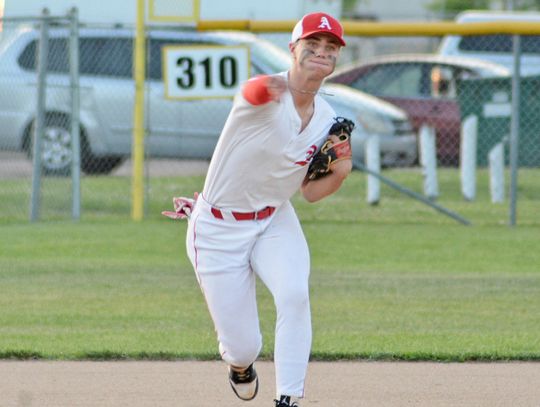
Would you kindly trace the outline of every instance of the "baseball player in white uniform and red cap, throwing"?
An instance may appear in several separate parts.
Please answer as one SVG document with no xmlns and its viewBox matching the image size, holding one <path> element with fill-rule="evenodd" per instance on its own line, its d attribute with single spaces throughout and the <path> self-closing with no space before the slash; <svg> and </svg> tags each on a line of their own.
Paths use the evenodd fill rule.
<svg viewBox="0 0 540 407">
<path fill-rule="evenodd" d="M 336 192 L 351 172 L 349 144 L 337 160 L 328 160 L 326 176 L 306 176 L 335 122 L 335 112 L 318 91 L 343 46 L 343 28 L 335 18 L 304 16 L 292 32 L 290 70 L 255 77 L 243 86 L 202 193 L 195 200 L 175 198 L 176 211 L 165 213 L 190 215 L 187 253 L 228 364 L 229 382 L 242 400 L 253 399 L 259 387 L 256 276 L 272 293 L 277 313 L 274 406 L 299 406 L 304 395 L 311 349 L 310 262 L 290 198 L 300 189 L 307 201 L 318 201 Z"/>
</svg>

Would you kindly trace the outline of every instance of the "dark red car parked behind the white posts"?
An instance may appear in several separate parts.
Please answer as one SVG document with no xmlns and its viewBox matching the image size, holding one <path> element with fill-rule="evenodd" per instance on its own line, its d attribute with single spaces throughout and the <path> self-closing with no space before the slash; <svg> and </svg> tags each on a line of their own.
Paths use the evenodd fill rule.
<svg viewBox="0 0 540 407">
<path fill-rule="evenodd" d="M 507 68 L 478 59 L 409 54 L 386 55 L 344 66 L 328 81 L 399 106 L 411 118 L 416 132 L 423 124 L 434 127 L 439 163 L 456 165 L 461 128 L 457 81 L 508 75 Z"/>
</svg>

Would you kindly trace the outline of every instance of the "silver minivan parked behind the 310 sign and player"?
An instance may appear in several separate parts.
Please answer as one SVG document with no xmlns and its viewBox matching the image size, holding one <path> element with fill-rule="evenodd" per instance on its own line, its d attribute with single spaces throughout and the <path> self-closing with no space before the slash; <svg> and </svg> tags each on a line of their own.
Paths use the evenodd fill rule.
<svg viewBox="0 0 540 407">
<path fill-rule="evenodd" d="M 8 34 L 8 33 L 5 33 Z M 71 165 L 69 134 L 68 31 L 51 29 L 43 166 L 66 174 Z M 81 165 L 84 172 L 108 173 L 131 154 L 133 30 L 82 28 L 79 32 Z M 147 32 L 145 151 L 150 157 L 210 159 L 232 106 L 231 99 L 171 100 L 165 97 L 162 48 L 165 45 L 249 46 L 251 75 L 287 70 L 290 56 L 255 35 L 240 32 Z M 36 115 L 38 30 L 21 27 L 0 44 L 0 148 L 31 155 Z M 343 85 L 328 84 L 321 94 L 337 115 L 354 120 L 354 160 L 363 143 L 381 138 L 385 165 L 417 159 L 415 135 L 406 113 Z"/>
</svg>

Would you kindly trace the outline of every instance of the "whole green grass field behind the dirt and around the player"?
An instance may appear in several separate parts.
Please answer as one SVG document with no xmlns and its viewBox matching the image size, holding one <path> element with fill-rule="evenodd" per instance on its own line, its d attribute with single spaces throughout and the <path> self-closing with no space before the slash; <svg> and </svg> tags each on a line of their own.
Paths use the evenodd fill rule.
<svg viewBox="0 0 540 407">
<path fill-rule="evenodd" d="M 418 174 L 390 175 L 418 189 Z M 540 360 L 538 175 L 520 173 L 515 228 L 507 205 L 489 203 L 485 189 L 465 202 L 444 174 L 439 203 L 473 226 L 386 187 L 378 206 L 366 205 L 359 173 L 321 203 L 295 197 L 312 252 L 313 357 Z M 7 182 L 4 214 L 13 203 Z M 202 182 L 152 179 L 140 223 L 129 220 L 129 180 L 115 177 L 84 180 L 78 223 L 52 206 L 44 222 L 2 217 L 0 358 L 217 358 L 185 255 L 186 224 L 159 215 Z M 271 357 L 273 304 L 259 288 Z"/>
</svg>

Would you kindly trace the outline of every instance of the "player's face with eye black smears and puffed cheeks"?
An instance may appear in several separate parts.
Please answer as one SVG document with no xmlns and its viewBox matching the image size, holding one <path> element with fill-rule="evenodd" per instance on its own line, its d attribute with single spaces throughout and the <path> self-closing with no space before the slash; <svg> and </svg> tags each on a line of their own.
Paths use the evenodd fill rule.
<svg viewBox="0 0 540 407">
<path fill-rule="evenodd" d="M 293 52 L 296 62 L 302 68 L 326 77 L 334 71 L 340 49 L 338 40 L 332 35 L 315 34 L 299 40 Z"/>
</svg>

